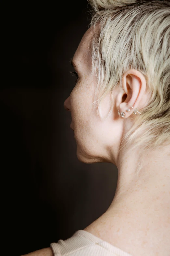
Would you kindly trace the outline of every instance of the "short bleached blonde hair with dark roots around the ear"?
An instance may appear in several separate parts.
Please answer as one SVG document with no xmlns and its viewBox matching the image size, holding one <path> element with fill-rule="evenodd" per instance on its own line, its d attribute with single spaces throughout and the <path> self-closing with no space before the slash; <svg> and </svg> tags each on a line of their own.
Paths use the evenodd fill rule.
<svg viewBox="0 0 170 256">
<path fill-rule="evenodd" d="M 146 151 L 170 143 L 170 2 L 88 1 L 91 26 L 100 24 L 92 38 L 92 70 L 97 78 L 93 104 L 98 115 L 104 96 L 122 86 L 126 71 L 136 69 L 144 75 L 151 98 L 141 115 L 133 115 L 124 145 L 133 142 L 133 147 L 140 145 Z"/>
</svg>

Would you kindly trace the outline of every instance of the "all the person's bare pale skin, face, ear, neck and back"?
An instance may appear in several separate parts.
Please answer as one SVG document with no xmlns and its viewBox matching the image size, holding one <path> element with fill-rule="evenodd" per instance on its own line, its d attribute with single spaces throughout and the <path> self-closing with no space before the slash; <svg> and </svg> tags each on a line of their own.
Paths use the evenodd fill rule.
<svg viewBox="0 0 170 256">
<path fill-rule="evenodd" d="M 147 153 L 139 175 L 135 168 L 140 148 L 119 150 L 123 135 L 133 123 L 131 106 L 142 110 L 149 103 L 150 94 L 145 77 L 138 70 L 128 70 L 123 75 L 123 91 L 113 91 L 112 114 L 104 120 L 97 117 L 92 106 L 95 82 L 90 42 L 93 33 L 93 28 L 85 33 L 73 57 L 79 78 L 64 108 L 71 112 L 78 159 L 84 163 L 113 163 L 118 168 L 118 183 L 108 210 L 84 230 L 132 256 L 169 256 L 170 145 Z M 101 105 L 101 116 L 107 113 L 109 104 L 108 94 Z M 131 111 L 126 112 L 129 108 Z M 118 110 L 125 117 L 118 116 Z M 27 255 L 53 256 L 50 248 L 43 250 Z"/>
</svg>

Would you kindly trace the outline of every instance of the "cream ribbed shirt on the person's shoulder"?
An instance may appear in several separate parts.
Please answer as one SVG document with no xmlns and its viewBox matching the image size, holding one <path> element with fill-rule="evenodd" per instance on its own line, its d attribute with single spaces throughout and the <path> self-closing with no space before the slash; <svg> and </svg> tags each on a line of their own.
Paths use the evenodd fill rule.
<svg viewBox="0 0 170 256">
<path fill-rule="evenodd" d="M 132 256 L 85 230 L 78 230 L 67 240 L 51 243 L 54 256 Z"/>
</svg>

